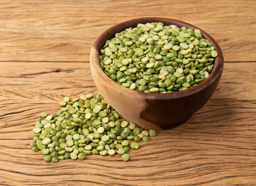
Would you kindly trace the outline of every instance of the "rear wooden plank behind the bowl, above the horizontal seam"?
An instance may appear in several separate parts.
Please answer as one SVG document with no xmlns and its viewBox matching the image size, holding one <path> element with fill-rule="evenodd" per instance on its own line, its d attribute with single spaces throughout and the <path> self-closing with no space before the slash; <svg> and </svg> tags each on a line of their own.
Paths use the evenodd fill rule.
<svg viewBox="0 0 256 186">
<path fill-rule="evenodd" d="M 1 2 L 0 61 L 87 61 L 103 31 L 139 17 L 173 18 L 198 26 L 217 40 L 225 61 L 256 58 L 254 0 Z"/>
</svg>

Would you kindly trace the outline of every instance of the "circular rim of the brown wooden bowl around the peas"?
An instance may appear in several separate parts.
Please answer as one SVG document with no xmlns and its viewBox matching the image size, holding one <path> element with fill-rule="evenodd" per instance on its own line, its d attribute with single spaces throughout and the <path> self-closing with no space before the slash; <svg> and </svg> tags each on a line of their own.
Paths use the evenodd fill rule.
<svg viewBox="0 0 256 186">
<path fill-rule="evenodd" d="M 123 87 L 122 85 L 119 85 L 115 81 L 111 80 L 101 69 L 100 61 L 99 61 L 99 55 L 100 55 L 100 49 L 103 48 L 103 45 L 105 45 L 106 40 L 109 40 L 115 36 L 117 32 L 121 32 L 126 28 L 130 28 L 131 26 L 136 27 L 138 23 L 146 23 L 146 22 L 163 22 L 164 25 L 167 25 L 166 22 L 169 25 L 176 25 L 177 27 L 187 27 L 191 28 L 193 30 L 199 29 L 201 31 L 201 34 L 204 39 L 209 40 L 215 47 L 215 50 L 218 52 L 218 56 L 215 58 L 213 70 L 209 74 L 209 77 L 206 78 L 204 81 L 199 83 L 198 85 L 195 85 L 194 87 L 191 87 L 186 90 L 177 91 L 177 92 L 171 92 L 171 93 L 146 93 L 146 92 L 139 92 L 136 90 L 130 90 L 127 87 Z M 112 36 L 112 37 L 111 37 Z M 103 42 L 104 41 L 104 42 Z M 145 18 L 135 18 L 131 20 L 127 20 L 124 22 L 120 22 L 117 25 L 114 25 L 110 28 L 108 28 L 106 31 L 104 31 L 94 42 L 94 45 L 92 46 L 91 52 L 90 52 L 90 66 L 91 68 L 95 68 L 97 73 L 103 78 L 102 80 L 112 89 L 116 89 L 117 91 L 121 92 L 127 92 L 128 94 L 132 94 L 133 96 L 140 96 L 145 97 L 147 99 L 177 99 L 182 98 L 186 96 L 190 96 L 191 94 L 195 94 L 197 92 L 200 92 L 204 90 L 205 88 L 209 87 L 216 79 L 218 79 L 218 76 L 222 75 L 223 67 L 224 67 L 224 57 L 222 50 L 215 39 L 213 39 L 207 32 L 200 29 L 199 27 L 195 25 L 191 25 L 190 23 L 183 22 L 181 20 L 175 20 L 171 18 L 160 18 L 160 17 L 145 17 Z"/>
</svg>

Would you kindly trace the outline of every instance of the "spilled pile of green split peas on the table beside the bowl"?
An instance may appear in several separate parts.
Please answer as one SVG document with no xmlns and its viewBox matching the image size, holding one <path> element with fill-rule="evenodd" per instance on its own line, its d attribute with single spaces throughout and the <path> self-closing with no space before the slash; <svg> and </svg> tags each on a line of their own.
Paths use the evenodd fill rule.
<svg viewBox="0 0 256 186">
<path fill-rule="evenodd" d="M 30 143 L 41 151 L 45 162 L 63 159 L 86 159 L 87 155 L 121 155 L 128 161 L 128 151 L 138 149 L 140 141 L 149 141 L 155 130 L 144 130 L 124 120 L 101 96 L 86 94 L 59 101 L 56 114 L 41 112 Z"/>
</svg>

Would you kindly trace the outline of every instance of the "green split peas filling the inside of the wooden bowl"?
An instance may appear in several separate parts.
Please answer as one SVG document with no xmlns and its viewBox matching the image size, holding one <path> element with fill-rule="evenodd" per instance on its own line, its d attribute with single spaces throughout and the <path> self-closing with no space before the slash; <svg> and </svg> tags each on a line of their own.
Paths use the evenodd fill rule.
<svg viewBox="0 0 256 186">
<path fill-rule="evenodd" d="M 218 56 L 199 29 L 138 24 L 115 34 L 100 50 L 105 74 L 131 90 L 170 93 L 198 85 L 211 74 Z"/>
</svg>

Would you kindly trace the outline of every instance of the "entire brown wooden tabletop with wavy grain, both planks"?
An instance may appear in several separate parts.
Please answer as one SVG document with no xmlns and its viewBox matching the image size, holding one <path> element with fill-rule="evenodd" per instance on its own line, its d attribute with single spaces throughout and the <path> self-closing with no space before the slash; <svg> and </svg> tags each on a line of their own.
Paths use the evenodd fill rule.
<svg viewBox="0 0 256 186">
<path fill-rule="evenodd" d="M 29 143 L 40 113 L 64 96 L 97 93 L 90 49 L 109 27 L 139 17 L 207 31 L 225 65 L 211 99 L 189 121 L 118 155 L 45 163 Z M 256 185 L 255 0 L 1 0 L 0 185 Z"/>
</svg>

